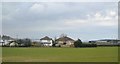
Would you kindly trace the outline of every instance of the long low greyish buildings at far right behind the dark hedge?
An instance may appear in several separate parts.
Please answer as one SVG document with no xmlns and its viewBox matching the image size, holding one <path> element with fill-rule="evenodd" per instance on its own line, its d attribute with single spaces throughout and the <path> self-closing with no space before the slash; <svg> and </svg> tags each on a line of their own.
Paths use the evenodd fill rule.
<svg viewBox="0 0 120 64">
<path fill-rule="evenodd" d="M 97 45 L 119 45 L 120 40 L 118 40 L 118 39 L 101 39 L 101 40 L 89 41 L 89 43 L 95 43 Z"/>
</svg>

